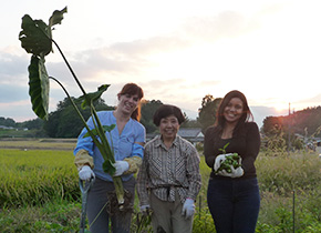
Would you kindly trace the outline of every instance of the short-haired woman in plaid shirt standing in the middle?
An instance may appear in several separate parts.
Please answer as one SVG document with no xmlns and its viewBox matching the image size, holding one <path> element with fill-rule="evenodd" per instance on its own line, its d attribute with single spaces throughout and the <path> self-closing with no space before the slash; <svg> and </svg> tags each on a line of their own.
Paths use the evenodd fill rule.
<svg viewBox="0 0 321 233">
<path fill-rule="evenodd" d="M 177 135 L 185 118 L 177 107 L 164 104 L 154 114 L 161 135 L 145 146 L 137 176 L 141 211 L 153 211 L 154 232 L 188 233 L 200 189 L 199 155 L 191 143 Z"/>
</svg>

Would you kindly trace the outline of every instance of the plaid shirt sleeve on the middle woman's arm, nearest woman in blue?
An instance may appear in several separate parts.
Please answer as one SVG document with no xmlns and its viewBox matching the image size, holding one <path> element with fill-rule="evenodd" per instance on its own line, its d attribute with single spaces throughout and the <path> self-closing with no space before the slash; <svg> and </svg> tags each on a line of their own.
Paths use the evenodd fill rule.
<svg viewBox="0 0 321 233">
<path fill-rule="evenodd" d="M 149 204 L 149 197 L 148 197 L 148 191 L 147 191 L 148 181 L 149 181 L 148 150 L 146 150 L 145 148 L 143 163 L 137 175 L 137 195 L 138 195 L 141 205 Z"/>
</svg>

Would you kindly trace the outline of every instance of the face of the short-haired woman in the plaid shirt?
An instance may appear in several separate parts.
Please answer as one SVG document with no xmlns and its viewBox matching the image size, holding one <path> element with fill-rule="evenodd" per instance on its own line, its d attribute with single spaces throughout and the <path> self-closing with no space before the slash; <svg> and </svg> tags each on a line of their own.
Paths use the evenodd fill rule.
<svg viewBox="0 0 321 233">
<path fill-rule="evenodd" d="M 163 140 L 173 141 L 179 130 L 179 122 L 175 115 L 162 118 L 159 122 L 159 132 Z"/>
</svg>

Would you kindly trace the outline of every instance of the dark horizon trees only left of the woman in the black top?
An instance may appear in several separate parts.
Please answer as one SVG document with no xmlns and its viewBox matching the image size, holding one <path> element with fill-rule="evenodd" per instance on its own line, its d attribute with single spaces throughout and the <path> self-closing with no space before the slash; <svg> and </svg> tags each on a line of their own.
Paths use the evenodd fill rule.
<svg viewBox="0 0 321 233">
<path fill-rule="evenodd" d="M 72 99 L 84 119 L 89 119 L 91 116 L 90 109 L 81 108 L 81 99 Z M 205 131 L 208 125 L 215 122 L 215 112 L 219 101 L 220 98 L 215 99 L 213 95 L 206 95 L 201 101 L 201 107 L 198 109 L 199 116 L 197 119 L 188 119 L 184 112 L 186 121 L 182 124 L 182 128 L 201 128 Z M 153 115 L 162 104 L 161 100 L 142 101 L 141 123 L 146 128 L 146 133 L 157 132 L 158 129 L 153 123 Z M 96 100 L 94 105 L 97 111 L 115 109 L 115 107 L 107 105 L 103 99 Z M 0 125 L 35 130 L 37 135 L 49 138 L 76 138 L 83 129 L 83 123 L 77 114 L 74 113 L 74 109 L 68 98 L 58 103 L 56 110 L 49 114 L 46 121 L 38 118 L 17 123 L 13 119 L 0 118 Z"/>
</svg>

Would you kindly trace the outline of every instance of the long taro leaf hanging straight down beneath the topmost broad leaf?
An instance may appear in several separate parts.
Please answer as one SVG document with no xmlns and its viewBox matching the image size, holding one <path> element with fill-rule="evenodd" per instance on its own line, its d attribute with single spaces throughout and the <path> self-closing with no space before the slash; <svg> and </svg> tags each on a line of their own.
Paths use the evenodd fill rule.
<svg viewBox="0 0 321 233">
<path fill-rule="evenodd" d="M 49 77 L 44 67 L 44 59 L 32 55 L 28 70 L 32 110 L 40 119 L 48 119 Z"/>
</svg>

